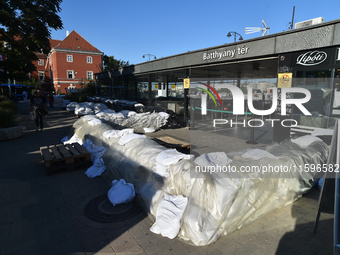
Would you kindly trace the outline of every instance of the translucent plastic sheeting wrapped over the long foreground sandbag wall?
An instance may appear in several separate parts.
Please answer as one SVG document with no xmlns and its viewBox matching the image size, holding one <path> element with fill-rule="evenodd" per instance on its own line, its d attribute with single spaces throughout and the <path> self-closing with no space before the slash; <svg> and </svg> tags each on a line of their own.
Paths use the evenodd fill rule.
<svg viewBox="0 0 340 255">
<path fill-rule="evenodd" d="M 210 244 L 220 236 L 292 203 L 316 183 L 314 173 L 304 171 L 200 172 L 196 169 L 204 166 L 204 161 L 199 162 L 199 166 L 194 159 L 186 158 L 169 165 L 168 178 L 159 178 L 155 165 L 157 156 L 167 150 L 163 146 L 147 138 L 121 145 L 119 137 L 103 136 L 104 132 L 112 130 L 104 123 L 92 127 L 80 119 L 74 123 L 74 128 L 78 137 L 91 137 L 95 144 L 107 147 L 102 156 L 106 173 L 132 183 L 145 210 L 153 218 L 157 216 L 164 194 L 187 197 L 178 236 L 194 245 Z M 316 165 L 324 163 L 328 155 L 328 147 L 322 141 L 314 141 L 307 147 L 285 142 L 264 150 L 268 153 L 258 159 L 243 157 L 248 150 L 228 153 L 224 159 L 230 160 L 228 166 L 240 169 L 269 164 L 284 167 Z M 210 159 L 207 164 L 217 165 L 211 160 L 214 155 L 202 158 Z"/>
</svg>

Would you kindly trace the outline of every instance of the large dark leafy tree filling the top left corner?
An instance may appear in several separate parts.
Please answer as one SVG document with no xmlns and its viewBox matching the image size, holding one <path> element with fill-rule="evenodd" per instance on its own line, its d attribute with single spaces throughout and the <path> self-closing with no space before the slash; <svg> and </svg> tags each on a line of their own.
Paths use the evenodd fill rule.
<svg viewBox="0 0 340 255">
<path fill-rule="evenodd" d="M 0 81 L 23 81 L 34 71 L 36 53 L 48 54 L 51 29 L 62 29 L 62 0 L 0 0 Z"/>
</svg>

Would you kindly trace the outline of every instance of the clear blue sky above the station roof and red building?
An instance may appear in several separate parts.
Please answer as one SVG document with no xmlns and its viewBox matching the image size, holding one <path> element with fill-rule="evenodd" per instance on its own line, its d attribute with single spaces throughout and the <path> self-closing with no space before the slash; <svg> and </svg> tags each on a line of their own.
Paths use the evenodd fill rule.
<svg viewBox="0 0 340 255">
<path fill-rule="evenodd" d="M 162 58 L 233 43 L 230 31 L 244 40 L 259 37 L 245 28 L 263 27 L 262 19 L 270 34 L 289 30 L 294 6 L 294 23 L 340 19 L 339 0 L 64 0 L 58 13 L 64 28 L 51 30 L 51 38 L 75 30 L 105 55 L 138 64 L 149 60 L 145 54 Z"/>
</svg>

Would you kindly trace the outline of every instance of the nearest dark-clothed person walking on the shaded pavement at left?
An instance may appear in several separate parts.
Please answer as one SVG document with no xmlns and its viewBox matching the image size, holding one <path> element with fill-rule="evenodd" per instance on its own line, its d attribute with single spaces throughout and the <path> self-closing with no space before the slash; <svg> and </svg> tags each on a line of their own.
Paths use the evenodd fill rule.
<svg viewBox="0 0 340 255">
<path fill-rule="evenodd" d="M 46 98 L 42 95 L 40 89 L 37 89 L 36 94 L 31 97 L 28 112 L 31 112 L 35 120 L 36 131 L 44 131 L 44 116 L 47 115 Z"/>
</svg>

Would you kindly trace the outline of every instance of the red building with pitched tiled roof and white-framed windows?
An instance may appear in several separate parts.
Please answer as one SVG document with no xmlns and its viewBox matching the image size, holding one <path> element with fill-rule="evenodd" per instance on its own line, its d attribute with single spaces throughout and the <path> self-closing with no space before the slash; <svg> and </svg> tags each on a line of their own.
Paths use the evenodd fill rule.
<svg viewBox="0 0 340 255">
<path fill-rule="evenodd" d="M 50 40 L 51 51 L 37 53 L 37 71 L 31 77 L 49 83 L 57 93 L 79 89 L 81 84 L 94 79 L 101 71 L 103 52 L 90 44 L 76 31 L 67 34 L 64 40 Z"/>
</svg>

